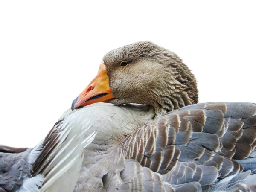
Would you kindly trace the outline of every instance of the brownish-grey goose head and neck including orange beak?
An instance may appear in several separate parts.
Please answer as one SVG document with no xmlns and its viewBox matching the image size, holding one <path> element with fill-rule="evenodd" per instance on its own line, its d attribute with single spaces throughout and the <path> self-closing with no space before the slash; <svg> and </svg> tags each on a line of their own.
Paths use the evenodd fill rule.
<svg viewBox="0 0 256 192">
<path fill-rule="evenodd" d="M 72 110 L 96 102 L 152 105 L 156 116 L 198 102 L 195 76 L 173 52 L 140 41 L 108 52 Z"/>
</svg>

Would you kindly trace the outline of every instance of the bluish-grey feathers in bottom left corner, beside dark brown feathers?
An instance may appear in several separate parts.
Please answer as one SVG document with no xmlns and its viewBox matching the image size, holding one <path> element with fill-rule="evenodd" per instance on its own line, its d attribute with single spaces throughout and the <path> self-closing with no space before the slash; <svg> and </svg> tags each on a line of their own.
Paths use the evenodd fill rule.
<svg viewBox="0 0 256 192">
<path fill-rule="evenodd" d="M 33 149 L 0 147 L 0 191 L 17 191 L 31 177 L 31 167 L 42 149 L 41 144 Z M 33 178 L 29 182 L 32 183 L 32 189 L 38 190 L 42 180 L 41 175 Z"/>
</svg>

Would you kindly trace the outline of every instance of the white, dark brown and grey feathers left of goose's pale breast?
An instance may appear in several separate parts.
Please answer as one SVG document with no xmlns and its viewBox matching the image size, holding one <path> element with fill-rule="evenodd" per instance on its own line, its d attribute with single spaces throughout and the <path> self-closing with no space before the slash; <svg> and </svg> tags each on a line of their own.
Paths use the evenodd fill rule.
<svg viewBox="0 0 256 192">
<path fill-rule="evenodd" d="M 34 148 L 0 145 L 0 192 L 72 191 L 76 185 L 83 149 L 95 132 L 86 135 L 88 119 L 74 126 L 72 115 L 55 123 Z"/>
</svg>

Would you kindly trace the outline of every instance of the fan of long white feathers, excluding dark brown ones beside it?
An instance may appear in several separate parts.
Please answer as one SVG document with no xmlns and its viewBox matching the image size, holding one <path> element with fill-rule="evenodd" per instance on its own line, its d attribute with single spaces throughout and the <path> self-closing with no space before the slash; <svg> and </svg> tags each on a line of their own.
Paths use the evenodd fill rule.
<svg viewBox="0 0 256 192">
<path fill-rule="evenodd" d="M 69 192 L 76 185 L 84 159 L 84 148 L 93 141 L 96 131 L 86 136 L 91 127 L 88 119 L 78 125 L 75 119 L 76 116 L 68 116 L 61 126 L 57 147 L 52 151 L 49 157 L 51 161 L 43 172 L 47 176 L 40 192 Z"/>
</svg>

